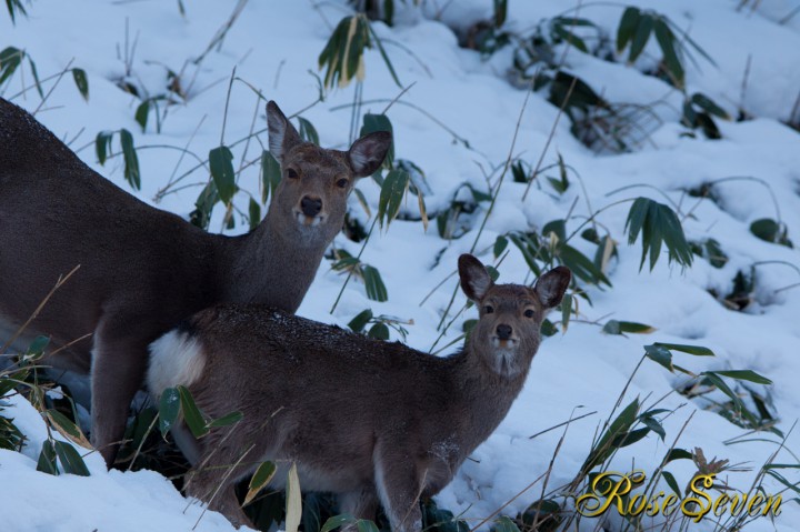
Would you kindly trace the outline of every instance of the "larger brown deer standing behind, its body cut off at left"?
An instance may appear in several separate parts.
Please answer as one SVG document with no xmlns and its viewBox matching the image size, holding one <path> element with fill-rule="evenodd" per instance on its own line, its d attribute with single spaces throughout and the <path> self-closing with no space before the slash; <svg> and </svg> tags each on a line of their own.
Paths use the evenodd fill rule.
<svg viewBox="0 0 800 532">
<path fill-rule="evenodd" d="M 108 464 L 143 384 L 148 344 L 221 302 L 294 312 L 342 228 L 356 179 L 374 172 L 391 143 L 377 132 L 349 151 L 323 150 L 302 142 L 274 102 L 267 121 L 282 180 L 260 225 L 230 238 L 114 187 L 0 99 L 0 329 L 14 331 L 80 264 L 28 330 L 56 347 L 92 333 L 49 363 L 91 369 L 92 442 Z"/>
</svg>

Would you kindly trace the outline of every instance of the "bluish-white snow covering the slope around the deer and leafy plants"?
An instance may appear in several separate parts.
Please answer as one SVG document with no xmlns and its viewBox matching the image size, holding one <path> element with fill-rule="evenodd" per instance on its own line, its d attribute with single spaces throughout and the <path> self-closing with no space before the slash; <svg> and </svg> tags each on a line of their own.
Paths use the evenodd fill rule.
<svg viewBox="0 0 800 532">
<path fill-rule="evenodd" d="M 488 191 L 484 172 L 490 173 L 506 161 L 526 92 L 506 80 L 510 49 L 483 60 L 478 52 L 459 48 L 457 37 L 447 26 L 468 27 L 489 18 L 492 2 L 423 1 L 423 9 L 396 3 L 397 24 L 389 28 L 376 23 L 374 27 L 384 39 L 400 81 L 404 87 L 413 86 L 391 107 L 388 116 L 394 130 L 397 157 L 413 161 L 424 171 L 431 189 L 426 203 L 429 212 L 434 213 L 449 205 L 462 183 Z M 687 238 L 716 239 L 729 261 L 717 269 L 696 257 L 693 265 L 683 270 L 669 265 L 667 251 L 662 249 L 656 268 L 648 271 L 646 265 L 640 272 L 641 243 L 628 245 L 623 231 L 630 203 L 599 214 L 598 222 L 619 243 L 619 255 L 611 260 L 608 271 L 612 288 L 600 290 L 581 283 L 593 304 L 581 300 L 580 315 L 566 334 L 544 341 L 529 382 L 508 418 L 476 451 L 474 461 L 467 461 L 452 484 L 437 498 L 441 508 L 463 513 L 471 522 L 490 515 L 547 471 L 563 429 L 534 439 L 529 436 L 570 416 L 597 412 L 569 426 L 548 489 L 572 480 L 589 453 L 592 435 L 611 412 L 646 344 L 708 347 L 716 358 L 677 354 L 676 363 L 696 372 L 753 370 L 774 383 L 764 393 L 771 399 L 771 412 L 780 420 L 780 430 L 789 432 L 800 414 L 800 393 L 796 388 L 800 375 L 800 320 L 797 318 L 800 287 L 789 288 L 800 282 L 796 269 L 800 264 L 798 251 L 759 240 L 749 230 L 754 220 L 779 219 L 788 228 L 789 238 L 800 243 L 800 134 L 781 123 L 791 118 L 800 92 L 800 14 L 780 23 L 798 3 L 791 0 L 749 2 L 759 3 L 756 11 L 749 6 L 737 11 L 736 0 L 636 0 L 632 3 L 668 16 L 679 28 L 689 31 L 714 60 L 716 66 L 704 59 L 699 59 L 697 66 L 688 64 L 689 93 L 703 92 L 730 114 L 736 117 L 741 109 L 752 119 L 718 121 L 721 140 L 707 140 L 699 132 L 697 138 L 686 137 L 682 134 L 686 128 L 679 123 L 680 93 L 640 71 L 660 58 L 654 40 L 636 68 L 570 49 L 566 56 L 568 70 L 607 100 L 638 104 L 662 101 L 657 107 L 660 123 L 639 149 L 598 155 L 570 134 L 569 120 L 563 117 L 548 145 L 558 109 L 547 101 L 546 92 L 533 93 L 521 116 L 513 155 L 536 165 L 547 147 L 543 165 L 554 163 L 560 154 L 573 169 L 569 178 L 571 185 L 558 194 L 540 178 L 541 185 L 533 185 L 521 201 L 526 184 L 507 177 L 476 247 L 481 253 L 479 258 L 493 261 L 491 247 L 499 234 L 511 230 L 540 232 L 549 221 L 564 219 L 571 212 L 572 218 L 567 222 L 569 233 L 582 222 L 581 217 L 614 201 L 644 195 L 660 202 L 674 202 L 683 214 L 691 211 L 693 215 L 682 219 Z M 204 159 L 208 150 L 219 145 L 221 135 L 230 145 L 248 137 L 253 123 L 254 130 L 266 127 L 263 101 L 251 87 L 266 98 L 274 99 L 287 114 L 314 102 L 319 86 L 309 71 L 317 72 L 317 58 L 332 28 L 349 13 L 343 1 L 252 1 L 224 39 L 208 49 L 203 60 L 196 64 L 192 61 L 207 51 L 213 36 L 230 17 L 233 3 L 198 0 L 183 4 L 186 16 L 179 12 L 178 2 L 168 1 L 34 0 L 24 4 L 29 16 L 19 17 L 16 26 L 3 11 L 0 13 L 0 49 L 8 46 L 23 49 L 36 61 L 41 79 L 60 72 L 68 64 L 83 69 L 88 74 L 89 100 L 81 98 L 68 73 L 57 84 L 54 80 L 44 82 L 44 91 L 52 88 L 52 92 L 38 109 L 41 100 L 36 91 L 18 94 L 32 82 L 27 64 L 10 81 L 0 84 L 0 96 L 30 111 L 38 109 L 37 118 L 68 141 L 90 167 L 129 191 L 122 177 L 121 158 L 111 159 L 104 167 L 98 163 L 94 137 L 102 130 L 130 130 L 141 167 L 142 190 L 137 195 L 154 203 L 157 193 L 170 179 L 198 163 L 192 155 L 183 155 L 174 148 L 186 148 Z M 570 6 L 556 0 L 511 0 L 508 28 L 523 31 L 543 18 L 564 12 Z M 441 13 L 437 13 L 439 8 Z M 613 36 L 622 9 L 618 4 L 587 3 L 579 14 Z M 140 100 L 121 91 L 117 82 L 127 79 L 144 88 L 149 96 L 157 96 L 166 91 L 168 69 L 181 74 L 188 100 L 169 107 L 161 120 L 160 133 L 152 114 L 142 132 L 134 121 Z M 237 80 L 243 81 L 231 86 L 222 131 L 233 69 Z M 379 52 L 369 51 L 363 111 L 381 112 L 399 93 Z M 340 149 L 348 145 L 348 106 L 352 100 L 352 87 L 333 90 L 327 92 L 324 102 L 302 113 L 319 131 L 322 145 Z M 796 123 L 797 112 L 794 109 Z M 448 130 L 466 139 L 469 148 L 456 141 Z M 266 145 L 266 133 L 259 139 Z M 258 142 L 247 144 L 247 153 L 244 147 L 244 142 L 233 147 L 236 168 L 241 161 L 258 160 L 260 155 Z M 256 197 L 259 195 L 257 167 L 244 170 L 239 180 L 241 189 Z M 491 175 L 492 184 L 498 174 Z M 558 171 L 546 172 L 546 175 L 557 177 Z M 698 200 L 684 193 L 732 177 L 756 179 L 716 184 L 716 201 Z M 207 179 L 207 171 L 193 172 L 179 182 L 180 187 L 189 187 L 163 195 L 154 204 L 188 215 Z M 638 187 L 619 191 L 630 185 Z M 376 212 L 378 185 L 363 180 L 359 188 Z M 609 195 L 611 192 L 614 193 Z M 247 210 L 247 193 L 240 192 L 234 203 Z M 416 198 L 409 197 L 402 212 L 413 217 L 416 203 Z M 404 325 L 409 331 L 407 342 L 429 350 L 439 335 L 437 324 L 456 281 L 434 288 L 454 271 L 458 255 L 472 247 L 487 207 L 488 203 L 481 203 L 472 218 L 468 217 L 470 230 L 458 240 L 440 238 L 433 221 L 427 232 L 421 222 L 413 220 L 397 220 L 387 230 L 376 231 L 362 260 L 380 271 L 388 289 L 387 302 L 368 300 L 363 284 L 350 282 L 331 314 L 343 277 L 332 271 L 326 261 L 299 313 L 343 327 L 357 313 L 371 308 L 376 315 L 412 320 L 413 324 Z M 366 221 L 354 197 L 351 209 L 353 215 Z M 211 222 L 213 231 L 221 230 L 221 211 L 218 205 Z M 229 232 L 246 229 L 247 223 L 238 220 L 236 229 Z M 360 244 L 343 234 L 334 245 L 352 254 L 360 250 Z M 583 241 L 574 245 L 587 253 L 594 250 L 593 244 Z M 509 245 L 509 250 L 499 265 L 500 280 L 530 282 L 522 255 L 513 245 Z M 739 270 L 748 273 L 753 265 L 754 302 L 744 312 L 728 310 L 709 293 L 711 289 L 721 294 L 730 292 L 736 273 Z M 432 295 L 420 304 L 431 291 Z M 460 309 L 463 302 L 463 295 L 459 294 L 453 309 Z M 466 318 L 473 313 L 468 311 Z M 457 320 L 439 347 L 460 334 L 460 324 L 466 318 Z M 648 335 L 606 334 L 601 325 L 610 319 L 646 323 L 656 331 Z M 670 393 L 684 382 L 686 379 L 644 361 L 632 379 L 623 405 L 636 397 L 643 401 L 647 398 L 650 404 L 667 395 L 658 408 L 676 411 L 663 420 L 666 442 L 650 433 L 623 449 L 611 469 L 652 472 L 691 416 L 678 446 L 702 448 L 709 459 L 728 459 L 731 464 L 747 469 L 723 475 L 731 485 L 747 490 L 760 465 L 778 450 L 773 442 L 779 439 L 773 434 L 742 439 L 747 431 L 703 409 L 707 403 Z M 27 402 L 19 399 L 11 402 L 2 413 L 14 418 L 29 443 L 21 454 L 0 451 L 3 530 L 188 530 L 200 516 L 201 509 L 188 504 L 160 475 L 147 471 L 106 472 L 94 455 L 87 459 L 90 478 L 36 472 L 36 459 L 44 439 L 43 423 Z M 746 441 L 730 444 L 733 438 Z M 800 436 L 791 433 L 786 448 L 774 461 L 797 464 L 791 452 L 800 451 Z M 681 485 L 696 471 L 687 460 L 676 461 L 668 469 Z M 792 482 L 798 481 L 792 470 L 786 470 L 786 474 Z M 776 493 L 783 486 L 768 480 L 764 489 Z M 537 500 L 541 491 L 541 483 L 536 484 L 503 512 L 516 515 Z M 782 513 L 774 522 L 759 519 L 747 530 L 796 530 L 800 506 L 790 501 L 791 498 L 791 492 L 784 493 Z M 586 530 L 592 530 L 593 524 L 586 522 Z M 608 523 L 609 530 L 618 525 L 613 519 Z M 211 513 L 206 513 L 197 528 L 229 529 L 223 518 Z M 714 530 L 714 525 L 706 522 L 692 525 L 691 530 Z"/>
</svg>

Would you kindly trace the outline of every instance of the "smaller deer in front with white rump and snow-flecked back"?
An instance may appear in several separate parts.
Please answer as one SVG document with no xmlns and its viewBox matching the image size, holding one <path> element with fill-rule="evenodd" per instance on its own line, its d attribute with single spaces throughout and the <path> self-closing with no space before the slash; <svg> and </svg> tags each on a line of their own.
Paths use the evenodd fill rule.
<svg viewBox="0 0 800 532">
<path fill-rule="evenodd" d="M 234 482 L 269 460 L 281 488 L 296 462 L 300 485 L 338 494 L 342 513 L 374 519 L 380 503 L 392 530 L 419 532 L 419 496 L 444 488 L 506 416 L 571 278 L 558 267 L 532 289 L 494 284 L 467 254 L 459 274 L 480 320 L 448 358 L 262 305 L 207 309 L 153 342 L 151 393 L 182 384 L 213 418 L 244 414 L 199 440 L 183 428 L 187 493 L 249 524 Z"/>
</svg>

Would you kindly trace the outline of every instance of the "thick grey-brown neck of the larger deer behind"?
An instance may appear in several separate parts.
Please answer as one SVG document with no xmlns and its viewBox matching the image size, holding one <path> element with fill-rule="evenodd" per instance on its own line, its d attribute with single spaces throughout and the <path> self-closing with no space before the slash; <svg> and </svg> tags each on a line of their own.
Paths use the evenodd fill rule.
<svg viewBox="0 0 800 532">
<path fill-rule="evenodd" d="M 293 229 L 293 228 L 292 228 Z M 314 279 L 328 242 L 286 230 L 272 209 L 258 228 L 229 240 L 222 273 L 228 301 L 296 312 Z"/>
</svg>

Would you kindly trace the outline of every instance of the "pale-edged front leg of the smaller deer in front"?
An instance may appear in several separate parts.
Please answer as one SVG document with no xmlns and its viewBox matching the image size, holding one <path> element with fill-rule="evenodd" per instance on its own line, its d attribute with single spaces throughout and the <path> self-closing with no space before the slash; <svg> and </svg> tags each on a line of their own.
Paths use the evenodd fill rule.
<svg viewBox="0 0 800 532">
<path fill-rule="evenodd" d="M 422 486 L 413 458 L 397 452 L 381 452 L 379 445 L 376 448 L 373 464 L 378 496 L 391 530 L 420 532 L 422 512 L 419 495 Z"/>
</svg>

